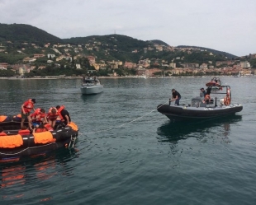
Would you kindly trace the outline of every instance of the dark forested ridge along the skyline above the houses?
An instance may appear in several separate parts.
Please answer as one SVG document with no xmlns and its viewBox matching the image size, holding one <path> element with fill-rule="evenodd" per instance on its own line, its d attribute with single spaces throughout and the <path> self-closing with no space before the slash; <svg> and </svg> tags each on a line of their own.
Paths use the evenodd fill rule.
<svg viewBox="0 0 256 205">
<path fill-rule="evenodd" d="M 116 42 L 111 42 L 111 37 L 116 37 Z M 88 40 L 98 40 L 112 46 L 119 46 L 125 52 L 130 52 L 133 49 L 144 49 L 152 46 L 153 44 L 161 44 L 170 46 L 162 40 L 137 40 L 126 35 L 91 35 L 85 37 L 71 37 L 69 39 L 60 39 L 55 35 L 51 35 L 45 30 L 41 30 L 36 26 L 26 24 L 2 24 L 0 23 L 0 42 L 13 41 L 13 42 L 34 42 L 34 43 L 70 43 L 70 44 L 87 44 Z M 177 48 L 197 48 L 206 49 L 214 54 L 220 54 L 227 58 L 236 58 L 234 54 L 229 54 L 216 49 L 209 49 L 200 46 L 178 45 Z"/>
</svg>

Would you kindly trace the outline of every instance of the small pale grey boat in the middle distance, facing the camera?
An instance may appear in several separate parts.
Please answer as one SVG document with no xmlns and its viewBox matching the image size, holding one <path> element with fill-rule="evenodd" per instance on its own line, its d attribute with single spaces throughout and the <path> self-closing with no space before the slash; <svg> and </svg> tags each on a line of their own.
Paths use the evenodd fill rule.
<svg viewBox="0 0 256 205">
<path fill-rule="evenodd" d="M 81 86 L 83 95 L 94 95 L 103 91 L 103 86 L 97 78 L 87 78 L 83 80 Z"/>
</svg>

